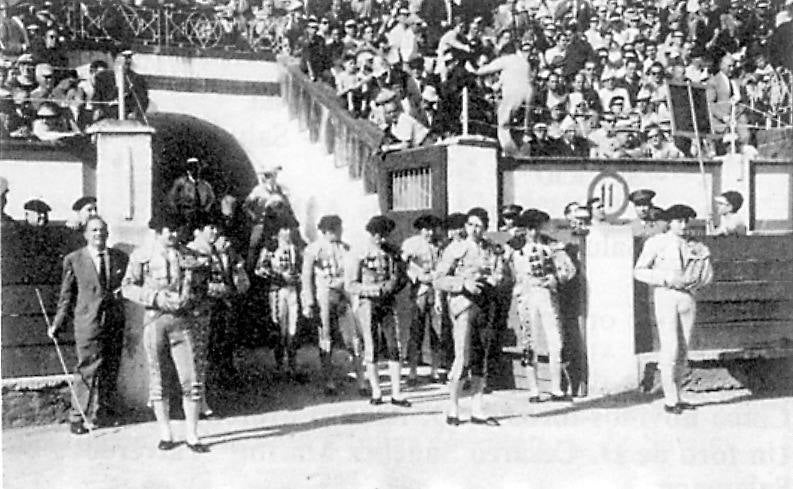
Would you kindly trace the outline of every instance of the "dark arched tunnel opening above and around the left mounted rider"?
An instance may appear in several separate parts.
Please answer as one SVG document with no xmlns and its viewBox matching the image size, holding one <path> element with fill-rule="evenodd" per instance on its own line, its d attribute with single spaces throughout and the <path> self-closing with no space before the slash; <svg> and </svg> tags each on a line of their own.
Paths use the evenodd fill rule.
<svg viewBox="0 0 793 489">
<path fill-rule="evenodd" d="M 163 208 L 173 181 L 184 174 L 186 160 L 204 164 L 201 178 L 220 198 L 232 194 L 244 199 L 256 185 L 256 172 L 237 139 L 225 129 L 186 114 L 147 114 L 156 129 L 152 139 L 152 209 Z"/>
</svg>

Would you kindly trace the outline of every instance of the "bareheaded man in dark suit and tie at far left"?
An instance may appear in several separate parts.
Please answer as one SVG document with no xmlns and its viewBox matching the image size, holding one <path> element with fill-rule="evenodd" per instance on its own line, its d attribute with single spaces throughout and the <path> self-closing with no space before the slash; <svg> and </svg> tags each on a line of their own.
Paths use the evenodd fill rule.
<svg viewBox="0 0 793 489">
<path fill-rule="evenodd" d="M 124 303 L 119 290 L 127 255 L 109 249 L 107 236 L 107 223 L 101 217 L 88 218 L 84 232 L 87 245 L 63 260 L 58 311 L 47 332 L 57 338 L 67 318 L 72 318 L 77 376 L 70 420 L 75 435 L 88 432 L 81 409 L 88 422 L 98 425 L 112 423 L 116 415 L 116 380 L 124 332 Z"/>
</svg>

